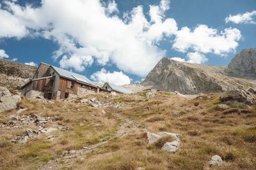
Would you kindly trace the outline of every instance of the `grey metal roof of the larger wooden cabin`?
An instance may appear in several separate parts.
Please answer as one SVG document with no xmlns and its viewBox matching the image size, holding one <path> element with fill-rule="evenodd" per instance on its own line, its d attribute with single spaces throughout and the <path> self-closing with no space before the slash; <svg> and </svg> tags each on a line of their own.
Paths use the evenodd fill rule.
<svg viewBox="0 0 256 170">
<path fill-rule="evenodd" d="M 81 74 L 73 73 L 59 67 L 51 66 L 61 77 L 97 87 L 91 80 Z"/>
</svg>

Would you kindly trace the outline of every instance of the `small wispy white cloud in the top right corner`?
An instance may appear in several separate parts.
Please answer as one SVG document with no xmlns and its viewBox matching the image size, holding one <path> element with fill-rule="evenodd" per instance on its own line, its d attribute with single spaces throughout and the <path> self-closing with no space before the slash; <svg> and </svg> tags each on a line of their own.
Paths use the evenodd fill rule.
<svg viewBox="0 0 256 170">
<path fill-rule="evenodd" d="M 225 22 L 234 22 L 235 24 L 256 24 L 256 22 L 253 20 L 253 16 L 255 15 L 256 11 L 237 15 L 229 15 L 225 18 Z"/>
</svg>

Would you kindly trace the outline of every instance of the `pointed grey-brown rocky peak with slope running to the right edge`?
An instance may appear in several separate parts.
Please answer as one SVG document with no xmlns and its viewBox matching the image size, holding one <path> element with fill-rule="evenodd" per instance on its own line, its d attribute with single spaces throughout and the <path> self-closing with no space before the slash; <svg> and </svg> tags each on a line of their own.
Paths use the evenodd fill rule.
<svg viewBox="0 0 256 170">
<path fill-rule="evenodd" d="M 178 91 L 182 94 L 223 92 L 233 85 L 248 89 L 255 87 L 256 82 L 232 76 L 246 76 L 251 79 L 253 75 L 256 77 L 254 52 L 255 48 L 243 50 L 228 66 L 190 64 L 164 57 L 141 84 L 152 85 L 157 90 Z"/>
</svg>

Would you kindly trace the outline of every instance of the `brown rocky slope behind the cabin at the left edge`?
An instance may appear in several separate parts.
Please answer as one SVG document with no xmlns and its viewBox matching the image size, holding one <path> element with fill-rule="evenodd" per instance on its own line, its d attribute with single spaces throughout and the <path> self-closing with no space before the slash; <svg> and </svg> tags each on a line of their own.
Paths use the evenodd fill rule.
<svg viewBox="0 0 256 170">
<path fill-rule="evenodd" d="M 0 85 L 19 89 L 36 71 L 36 66 L 0 59 Z"/>
</svg>

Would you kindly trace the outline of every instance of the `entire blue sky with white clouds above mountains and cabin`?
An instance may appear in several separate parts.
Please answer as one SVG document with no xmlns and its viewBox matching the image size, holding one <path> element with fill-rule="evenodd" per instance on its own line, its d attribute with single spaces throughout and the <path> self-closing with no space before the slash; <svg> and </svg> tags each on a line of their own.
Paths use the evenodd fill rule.
<svg viewBox="0 0 256 170">
<path fill-rule="evenodd" d="M 256 47 L 255 0 L 0 0 L 0 58 L 145 80 L 163 57 L 227 66 Z"/>
</svg>

